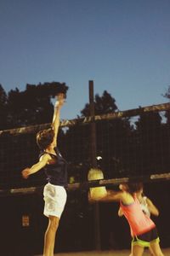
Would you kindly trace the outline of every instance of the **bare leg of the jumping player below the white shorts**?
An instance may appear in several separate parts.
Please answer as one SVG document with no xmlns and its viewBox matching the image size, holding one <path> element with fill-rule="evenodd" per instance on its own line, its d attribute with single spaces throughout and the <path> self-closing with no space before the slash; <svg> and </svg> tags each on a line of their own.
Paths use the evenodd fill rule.
<svg viewBox="0 0 170 256">
<path fill-rule="evenodd" d="M 59 226 L 59 218 L 49 216 L 48 228 L 44 236 L 43 256 L 54 256 L 55 235 Z"/>
</svg>

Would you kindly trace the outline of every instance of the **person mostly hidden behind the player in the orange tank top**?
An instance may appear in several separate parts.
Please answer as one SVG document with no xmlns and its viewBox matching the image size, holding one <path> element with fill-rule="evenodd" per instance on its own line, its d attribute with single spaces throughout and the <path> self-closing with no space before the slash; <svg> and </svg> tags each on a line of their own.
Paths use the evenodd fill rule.
<svg viewBox="0 0 170 256">
<path fill-rule="evenodd" d="M 119 187 L 122 190 L 122 184 Z M 153 202 L 147 196 L 144 195 L 143 183 L 139 183 L 139 190 L 135 194 L 136 194 L 136 197 L 138 198 L 140 207 L 144 212 L 144 214 L 146 214 L 149 218 L 150 218 L 150 214 L 154 216 L 159 215 L 159 211 L 157 207 L 153 204 Z M 123 216 L 121 207 L 119 207 L 118 216 L 119 217 Z M 150 249 L 150 255 L 154 255 L 154 253 L 151 250 L 151 247 L 149 247 L 149 249 Z M 131 253 L 129 256 L 133 256 L 133 253 Z"/>
</svg>

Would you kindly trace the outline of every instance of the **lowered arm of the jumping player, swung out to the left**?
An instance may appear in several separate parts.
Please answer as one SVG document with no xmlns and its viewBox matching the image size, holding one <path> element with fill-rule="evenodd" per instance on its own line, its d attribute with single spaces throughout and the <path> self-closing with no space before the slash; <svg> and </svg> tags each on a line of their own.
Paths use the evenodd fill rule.
<svg viewBox="0 0 170 256">
<path fill-rule="evenodd" d="M 40 171 L 44 166 L 47 165 L 49 159 L 50 157 L 48 154 L 43 154 L 40 160 L 35 165 L 31 166 L 31 168 L 27 167 L 21 172 L 22 177 L 27 178 L 31 174 Z"/>
</svg>

